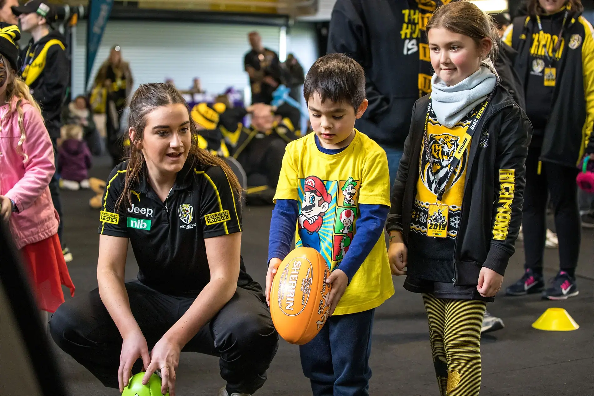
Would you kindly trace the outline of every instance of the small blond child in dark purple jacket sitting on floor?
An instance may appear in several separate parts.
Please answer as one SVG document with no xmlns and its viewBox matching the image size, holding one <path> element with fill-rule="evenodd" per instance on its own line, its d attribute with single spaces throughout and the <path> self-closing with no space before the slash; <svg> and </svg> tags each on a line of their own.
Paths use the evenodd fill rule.
<svg viewBox="0 0 594 396">
<path fill-rule="evenodd" d="M 58 173 L 60 187 L 68 190 L 89 188 L 91 152 L 83 139 L 83 127 L 64 125 L 61 128 L 62 144 L 58 148 Z"/>
</svg>

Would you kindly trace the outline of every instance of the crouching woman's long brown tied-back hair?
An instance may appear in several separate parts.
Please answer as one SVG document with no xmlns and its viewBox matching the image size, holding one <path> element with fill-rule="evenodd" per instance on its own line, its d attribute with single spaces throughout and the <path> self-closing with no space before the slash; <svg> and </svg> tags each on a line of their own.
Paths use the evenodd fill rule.
<svg viewBox="0 0 594 396">
<path fill-rule="evenodd" d="M 119 208 L 119 205 L 124 200 L 128 205 L 132 204 L 130 189 L 134 183 L 138 182 L 141 172 L 147 172 L 144 155 L 141 150 L 136 148 L 138 142 L 143 139 L 146 116 L 157 107 L 167 106 L 168 104 L 184 104 L 188 110 L 188 119 L 192 119 L 188 104 L 173 85 L 163 83 L 142 84 L 135 91 L 134 95 L 132 95 L 128 126 L 134 128 L 138 133 L 135 134 L 134 140 L 130 142 L 128 147 L 127 154 L 129 161 L 126 168 L 124 191 L 122 191 L 122 195 L 120 195 L 116 202 L 116 208 Z M 213 156 L 208 151 L 199 148 L 197 141 L 198 131 L 193 122 L 189 123 L 189 128 L 192 134 L 192 145 L 189 148 L 188 159 L 186 161 L 189 161 L 192 166 L 207 165 L 221 167 L 229 179 L 233 192 L 238 197 L 241 197 L 241 185 L 239 185 L 239 181 L 229 165 L 219 157 Z"/>
</svg>

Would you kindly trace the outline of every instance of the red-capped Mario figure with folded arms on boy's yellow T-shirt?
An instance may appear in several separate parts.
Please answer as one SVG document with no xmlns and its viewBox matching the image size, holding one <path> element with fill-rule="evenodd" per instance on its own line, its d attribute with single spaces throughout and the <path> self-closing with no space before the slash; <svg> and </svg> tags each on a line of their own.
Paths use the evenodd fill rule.
<svg viewBox="0 0 594 396">
<path fill-rule="evenodd" d="M 321 251 L 320 229 L 331 202 L 332 196 L 328 194 L 324 182 L 317 176 L 308 176 L 298 217 L 299 237 L 303 246 Z"/>
</svg>

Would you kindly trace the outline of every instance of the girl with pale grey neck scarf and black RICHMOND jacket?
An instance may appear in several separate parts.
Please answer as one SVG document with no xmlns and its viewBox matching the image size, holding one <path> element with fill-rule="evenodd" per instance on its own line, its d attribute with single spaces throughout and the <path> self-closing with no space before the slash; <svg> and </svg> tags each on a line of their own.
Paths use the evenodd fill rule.
<svg viewBox="0 0 594 396">
<path fill-rule="evenodd" d="M 498 44 L 488 15 L 452 2 L 426 31 L 435 75 L 392 188 L 388 255 L 405 289 L 422 293 L 441 394 L 478 395 L 482 319 L 514 253 L 532 126 L 488 59 Z"/>
</svg>

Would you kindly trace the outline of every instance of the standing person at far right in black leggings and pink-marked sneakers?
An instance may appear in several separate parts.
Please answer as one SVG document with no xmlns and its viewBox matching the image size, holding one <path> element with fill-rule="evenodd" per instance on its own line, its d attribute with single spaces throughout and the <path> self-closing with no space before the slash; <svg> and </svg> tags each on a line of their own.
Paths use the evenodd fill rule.
<svg viewBox="0 0 594 396">
<path fill-rule="evenodd" d="M 594 153 L 594 29 L 579 0 L 531 0 L 529 16 L 514 19 L 503 40 L 519 52 L 514 67 L 526 88 L 534 135 L 526 159 L 523 208 L 525 274 L 506 293 L 545 289 L 542 264 L 550 193 L 559 240 L 560 271 L 542 296 L 577 296 L 580 252 L 577 167 Z"/>
</svg>

